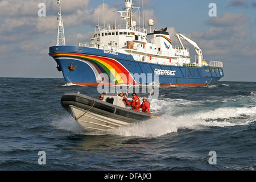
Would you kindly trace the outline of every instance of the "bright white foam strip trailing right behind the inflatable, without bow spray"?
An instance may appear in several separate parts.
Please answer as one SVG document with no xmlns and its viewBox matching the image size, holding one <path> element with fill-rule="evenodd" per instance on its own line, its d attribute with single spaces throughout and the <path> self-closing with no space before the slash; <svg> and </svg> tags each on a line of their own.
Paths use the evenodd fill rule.
<svg viewBox="0 0 256 182">
<path fill-rule="evenodd" d="M 148 121 L 133 123 L 130 126 L 120 127 L 109 131 L 111 134 L 138 137 L 159 137 L 168 133 L 177 132 L 178 129 L 205 129 L 204 126 L 236 126 L 249 125 L 253 122 L 256 107 L 252 108 L 219 108 L 214 111 L 205 111 L 195 114 L 184 114 L 177 117 L 164 115 Z M 240 117 L 247 119 L 236 119 Z M 254 119 L 253 119 L 254 118 Z"/>
</svg>

